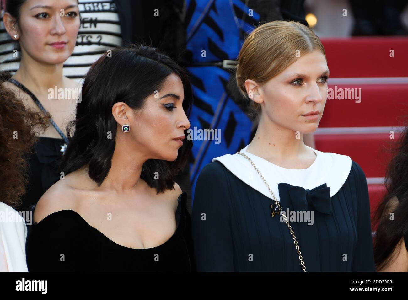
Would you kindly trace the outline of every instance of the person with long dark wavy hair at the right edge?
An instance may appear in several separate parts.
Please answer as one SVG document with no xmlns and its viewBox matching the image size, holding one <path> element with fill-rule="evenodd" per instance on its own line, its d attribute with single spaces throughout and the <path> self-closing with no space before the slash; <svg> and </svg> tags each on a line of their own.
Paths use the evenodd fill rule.
<svg viewBox="0 0 408 300">
<path fill-rule="evenodd" d="M 408 272 L 408 126 L 393 151 L 385 177 L 387 192 L 373 218 L 378 224 L 374 259 L 377 271 Z"/>
</svg>

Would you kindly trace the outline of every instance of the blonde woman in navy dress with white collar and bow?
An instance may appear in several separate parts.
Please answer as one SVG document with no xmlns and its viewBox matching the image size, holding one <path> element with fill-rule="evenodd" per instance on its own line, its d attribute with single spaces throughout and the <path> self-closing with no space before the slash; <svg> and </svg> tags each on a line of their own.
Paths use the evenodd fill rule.
<svg viewBox="0 0 408 300">
<path fill-rule="evenodd" d="M 323 116 L 328 76 L 322 43 L 300 23 L 246 38 L 236 79 L 259 126 L 197 180 L 197 271 L 375 271 L 364 172 L 303 141 Z"/>
</svg>

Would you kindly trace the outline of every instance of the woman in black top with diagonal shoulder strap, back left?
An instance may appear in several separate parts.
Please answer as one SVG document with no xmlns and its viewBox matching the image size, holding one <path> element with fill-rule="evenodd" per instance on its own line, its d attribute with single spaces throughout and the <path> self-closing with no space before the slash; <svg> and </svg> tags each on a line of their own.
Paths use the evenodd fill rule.
<svg viewBox="0 0 408 300">
<path fill-rule="evenodd" d="M 4 27 L 21 57 L 16 73 L 4 84 L 27 109 L 49 115 L 52 126 L 39 132 L 30 165 L 27 193 L 17 210 L 27 210 L 63 178 L 57 170 L 68 144 L 65 123 L 73 119 L 80 85 L 63 76 L 80 27 L 77 0 L 7 0 Z M 61 129 L 60 129 L 61 128 Z"/>
</svg>

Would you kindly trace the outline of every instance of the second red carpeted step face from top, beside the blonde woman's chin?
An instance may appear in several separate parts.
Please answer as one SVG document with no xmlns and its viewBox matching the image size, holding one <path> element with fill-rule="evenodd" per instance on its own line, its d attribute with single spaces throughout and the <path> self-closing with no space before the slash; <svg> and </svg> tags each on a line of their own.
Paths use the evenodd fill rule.
<svg viewBox="0 0 408 300">
<path fill-rule="evenodd" d="M 319 127 L 401 126 L 403 116 L 408 116 L 408 84 L 329 84 L 328 88 L 331 94 Z M 357 91 L 354 100 L 337 98 L 340 93 L 352 98 L 352 91 Z"/>
</svg>

